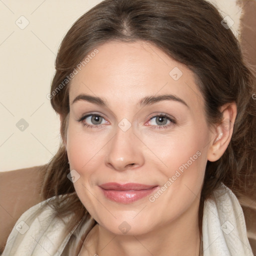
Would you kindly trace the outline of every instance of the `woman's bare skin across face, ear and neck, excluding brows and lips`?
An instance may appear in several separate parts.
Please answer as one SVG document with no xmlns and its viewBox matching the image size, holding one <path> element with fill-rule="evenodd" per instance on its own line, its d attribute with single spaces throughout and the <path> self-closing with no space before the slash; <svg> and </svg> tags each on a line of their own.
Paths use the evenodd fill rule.
<svg viewBox="0 0 256 256">
<path fill-rule="evenodd" d="M 108 41 L 97 49 L 71 81 L 63 139 L 70 170 L 80 175 L 74 188 L 98 222 L 86 237 L 81 255 L 198 255 L 197 218 L 206 162 L 223 154 L 232 126 L 226 128 L 223 123 L 209 128 L 193 73 L 152 44 Z M 178 80 L 169 75 L 174 67 L 183 73 Z M 72 104 L 80 93 L 104 98 L 107 106 L 85 100 Z M 174 94 L 188 107 L 174 100 L 138 104 L 145 96 L 162 94 Z M 234 122 L 234 103 L 220 111 L 225 120 Z M 91 116 L 82 121 L 93 128 L 77 121 L 90 113 L 103 117 L 100 124 L 94 124 Z M 162 113 L 176 124 L 164 119 L 166 128 L 156 128 L 161 124 L 155 116 Z M 126 131 L 118 126 L 123 118 L 131 124 Z M 114 202 L 98 187 L 111 181 L 161 187 L 198 151 L 200 156 L 153 202 L 149 196 L 129 204 Z M 123 221 L 130 226 L 126 234 L 118 228 Z"/>
</svg>

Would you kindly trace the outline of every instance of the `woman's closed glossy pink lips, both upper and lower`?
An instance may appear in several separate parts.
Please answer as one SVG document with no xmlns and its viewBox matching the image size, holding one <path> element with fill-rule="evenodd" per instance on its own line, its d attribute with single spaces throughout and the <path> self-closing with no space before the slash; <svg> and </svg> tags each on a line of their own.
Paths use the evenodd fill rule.
<svg viewBox="0 0 256 256">
<path fill-rule="evenodd" d="M 130 203 L 147 196 L 159 186 L 138 183 L 119 184 L 116 182 L 109 182 L 101 184 L 99 187 L 108 199 L 121 203 Z"/>
</svg>

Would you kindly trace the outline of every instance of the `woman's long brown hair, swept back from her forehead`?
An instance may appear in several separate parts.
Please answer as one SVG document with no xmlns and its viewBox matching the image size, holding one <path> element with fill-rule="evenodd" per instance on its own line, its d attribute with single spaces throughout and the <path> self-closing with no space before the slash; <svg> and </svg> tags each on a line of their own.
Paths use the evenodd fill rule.
<svg viewBox="0 0 256 256">
<path fill-rule="evenodd" d="M 200 232 L 203 202 L 220 182 L 238 198 L 251 197 L 255 192 L 254 75 L 242 59 L 237 39 L 230 29 L 222 26 L 222 19 L 217 9 L 205 0 L 104 0 L 83 14 L 66 33 L 57 53 L 51 84 L 54 95 L 51 105 L 64 116 L 62 139 L 65 139 L 69 116 L 69 83 L 66 82 L 57 93 L 53 92 L 86 54 L 107 40 L 144 40 L 185 64 L 197 78 L 209 126 L 222 120 L 219 107 L 234 101 L 237 116 L 231 141 L 217 161 L 206 164 L 198 215 Z M 56 196 L 52 203 L 59 217 L 74 214 L 67 227 L 70 231 L 81 219 L 80 223 L 87 221 L 90 215 L 67 178 L 68 172 L 67 153 L 61 142 L 47 165 L 42 192 L 44 198 Z M 66 196 L 60 198 L 61 194 Z M 256 199 L 255 195 L 252 199 Z M 95 223 L 91 223 L 82 238 Z M 82 239 L 80 244 L 74 245 L 74 240 L 70 239 L 69 246 L 73 243 L 76 249 L 74 255 L 81 242 Z"/>
</svg>

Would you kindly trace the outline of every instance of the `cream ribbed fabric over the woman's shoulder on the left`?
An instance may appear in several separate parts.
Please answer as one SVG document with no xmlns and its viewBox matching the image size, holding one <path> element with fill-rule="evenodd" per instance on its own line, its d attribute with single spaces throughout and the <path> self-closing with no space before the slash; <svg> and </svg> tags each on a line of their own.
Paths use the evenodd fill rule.
<svg viewBox="0 0 256 256">
<path fill-rule="evenodd" d="M 16 221 L 8 236 L 2 256 L 29 256 L 29 255 L 60 255 L 56 254 L 68 239 L 65 233 L 65 220 L 57 217 L 55 210 L 47 200 L 26 210 Z"/>
</svg>

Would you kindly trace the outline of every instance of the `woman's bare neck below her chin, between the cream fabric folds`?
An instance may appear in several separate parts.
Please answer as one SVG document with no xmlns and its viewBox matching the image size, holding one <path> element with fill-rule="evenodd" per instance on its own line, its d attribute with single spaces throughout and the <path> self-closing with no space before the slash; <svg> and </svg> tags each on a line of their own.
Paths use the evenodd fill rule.
<svg viewBox="0 0 256 256">
<path fill-rule="evenodd" d="M 196 201 L 197 202 L 197 201 Z M 191 205 L 175 220 L 164 223 L 142 235 L 116 235 L 96 224 L 86 237 L 87 253 L 99 256 L 198 256 L 200 236 L 198 227 L 199 202 Z"/>
</svg>

